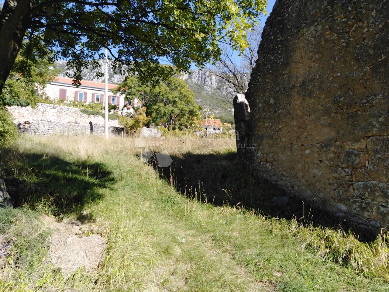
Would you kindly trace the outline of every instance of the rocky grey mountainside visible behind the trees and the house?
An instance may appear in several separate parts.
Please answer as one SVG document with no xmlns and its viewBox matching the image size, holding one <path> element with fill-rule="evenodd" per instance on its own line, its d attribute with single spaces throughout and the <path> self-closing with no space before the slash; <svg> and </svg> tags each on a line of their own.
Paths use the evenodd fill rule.
<svg viewBox="0 0 389 292">
<path fill-rule="evenodd" d="M 100 68 L 89 67 L 81 72 L 84 80 L 104 82 L 104 77 L 96 78 L 96 72 L 103 72 L 104 62 L 99 60 Z M 59 76 L 66 76 L 67 67 L 65 61 L 58 61 L 58 68 L 61 70 Z M 108 66 L 108 82 L 113 84 L 121 83 L 126 77 L 127 67 L 123 66 L 122 72 L 114 72 Z M 182 79 L 185 80 L 188 87 L 195 93 L 196 102 L 203 107 L 204 112 L 221 118 L 224 122 L 233 122 L 233 93 L 222 84 L 216 76 L 203 70 L 191 70 L 189 74 L 184 74 Z M 230 100 L 230 104 L 228 104 Z"/>
</svg>

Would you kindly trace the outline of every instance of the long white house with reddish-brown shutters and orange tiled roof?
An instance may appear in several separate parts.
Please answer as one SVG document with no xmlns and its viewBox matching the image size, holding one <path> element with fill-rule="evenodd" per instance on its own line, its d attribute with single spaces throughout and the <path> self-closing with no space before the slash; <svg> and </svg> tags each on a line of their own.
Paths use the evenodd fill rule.
<svg viewBox="0 0 389 292">
<path fill-rule="evenodd" d="M 56 77 L 56 79 L 46 85 L 44 91 L 50 99 L 56 100 L 76 100 L 85 103 L 101 103 L 108 98 L 108 104 L 116 105 L 119 108 L 133 109 L 139 106 L 136 98 L 132 100 L 125 99 L 123 93 L 114 94 L 112 89 L 116 84 L 108 84 L 108 96 L 105 97 L 104 83 L 81 80 L 79 87 L 72 84 L 73 79 L 67 77 Z"/>
</svg>

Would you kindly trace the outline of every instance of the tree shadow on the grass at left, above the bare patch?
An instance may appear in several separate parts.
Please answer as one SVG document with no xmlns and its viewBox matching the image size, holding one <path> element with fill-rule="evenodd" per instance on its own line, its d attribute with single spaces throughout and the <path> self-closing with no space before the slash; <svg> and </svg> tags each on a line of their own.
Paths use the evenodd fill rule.
<svg viewBox="0 0 389 292">
<path fill-rule="evenodd" d="M 2 165 L 14 207 L 29 206 L 58 217 L 74 214 L 81 221 L 91 219 L 82 212 L 84 206 L 100 200 L 99 188 L 114 181 L 104 164 L 44 153 L 3 151 Z"/>
</svg>

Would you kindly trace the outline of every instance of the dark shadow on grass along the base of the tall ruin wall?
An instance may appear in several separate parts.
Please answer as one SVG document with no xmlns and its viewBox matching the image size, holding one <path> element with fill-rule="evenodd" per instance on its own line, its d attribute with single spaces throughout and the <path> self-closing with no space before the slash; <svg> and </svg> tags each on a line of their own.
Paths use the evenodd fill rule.
<svg viewBox="0 0 389 292">
<path fill-rule="evenodd" d="M 172 157 L 169 167 L 151 164 L 160 178 L 168 181 L 178 192 L 189 198 L 216 206 L 229 205 L 235 208 L 255 210 L 261 215 L 276 218 L 296 218 L 303 225 L 342 228 L 351 230 L 360 240 L 372 241 L 377 234 L 352 226 L 332 213 L 328 213 L 315 201 L 307 202 L 293 196 L 252 172 L 239 166 L 237 153 L 193 154 Z"/>
</svg>

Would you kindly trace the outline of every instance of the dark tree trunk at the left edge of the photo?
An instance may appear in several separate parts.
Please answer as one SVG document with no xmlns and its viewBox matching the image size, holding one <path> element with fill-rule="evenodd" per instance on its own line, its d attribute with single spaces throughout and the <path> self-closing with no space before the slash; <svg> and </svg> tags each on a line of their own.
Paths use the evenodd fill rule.
<svg viewBox="0 0 389 292">
<path fill-rule="evenodd" d="M 0 12 L 0 95 L 31 22 L 33 0 L 6 0 Z M 0 104 L 0 106 L 2 106 Z M 12 206 L 5 188 L 0 157 L 0 206 Z"/>
</svg>

